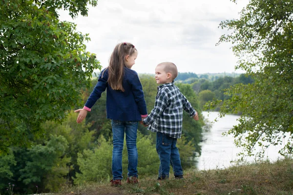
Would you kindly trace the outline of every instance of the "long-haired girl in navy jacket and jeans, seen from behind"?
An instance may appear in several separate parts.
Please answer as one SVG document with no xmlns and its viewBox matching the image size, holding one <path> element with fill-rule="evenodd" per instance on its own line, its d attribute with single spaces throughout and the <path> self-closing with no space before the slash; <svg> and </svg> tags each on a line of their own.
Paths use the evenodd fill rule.
<svg viewBox="0 0 293 195">
<path fill-rule="evenodd" d="M 131 43 L 119 43 L 114 48 L 109 59 L 109 65 L 98 79 L 98 83 L 87 99 L 84 108 L 74 112 L 79 113 L 77 122 L 86 117 L 87 112 L 107 89 L 106 111 L 107 118 L 112 119 L 113 152 L 112 186 L 121 185 L 122 151 L 124 134 L 128 153 L 127 183 L 138 183 L 136 133 L 138 122 L 147 116 L 146 101 L 142 84 L 131 67 L 137 58 L 137 50 Z"/>
</svg>

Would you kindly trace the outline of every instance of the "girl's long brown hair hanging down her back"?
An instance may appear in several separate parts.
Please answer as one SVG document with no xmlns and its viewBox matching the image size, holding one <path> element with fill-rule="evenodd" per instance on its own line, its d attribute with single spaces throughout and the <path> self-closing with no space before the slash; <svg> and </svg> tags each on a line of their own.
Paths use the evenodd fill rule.
<svg viewBox="0 0 293 195">
<path fill-rule="evenodd" d="M 137 50 L 134 45 L 128 42 L 122 42 L 115 46 L 109 59 L 109 66 L 107 67 L 108 85 L 113 90 L 120 90 L 122 92 L 125 91 L 122 85 L 124 78 L 125 57 L 127 55 L 131 56 L 135 51 Z"/>
</svg>

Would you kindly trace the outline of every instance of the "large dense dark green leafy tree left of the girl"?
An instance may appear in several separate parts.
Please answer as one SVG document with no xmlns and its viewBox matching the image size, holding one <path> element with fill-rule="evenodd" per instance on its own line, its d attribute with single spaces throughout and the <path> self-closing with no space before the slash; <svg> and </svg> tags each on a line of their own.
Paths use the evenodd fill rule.
<svg viewBox="0 0 293 195">
<path fill-rule="evenodd" d="M 0 154 L 42 136 L 42 122 L 62 121 L 101 69 L 85 51 L 88 35 L 57 14 L 86 16 L 88 3 L 97 0 L 0 1 Z"/>
</svg>

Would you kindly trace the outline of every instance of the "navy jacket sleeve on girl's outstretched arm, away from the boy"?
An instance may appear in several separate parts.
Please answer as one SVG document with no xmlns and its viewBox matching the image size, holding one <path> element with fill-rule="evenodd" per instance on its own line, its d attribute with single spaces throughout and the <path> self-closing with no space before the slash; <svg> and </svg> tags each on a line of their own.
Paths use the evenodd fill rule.
<svg viewBox="0 0 293 195">
<path fill-rule="evenodd" d="M 107 80 L 108 80 L 108 75 L 104 70 L 101 72 L 101 74 L 98 78 L 98 83 L 96 84 L 92 93 L 89 95 L 89 98 L 87 99 L 84 106 L 86 106 L 87 108 L 90 109 L 96 103 L 96 101 L 99 98 L 101 98 L 102 93 L 105 91 L 105 89 L 107 87 Z"/>
</svg>

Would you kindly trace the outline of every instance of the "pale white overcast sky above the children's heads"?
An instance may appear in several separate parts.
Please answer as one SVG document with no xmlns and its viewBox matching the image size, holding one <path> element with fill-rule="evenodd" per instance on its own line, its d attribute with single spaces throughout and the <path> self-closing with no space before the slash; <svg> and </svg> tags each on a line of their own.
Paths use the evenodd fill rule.
<svg viewBox="0 0 293 195">
<path fill-rule="evenodd" d="M 73 21 L 77 30 L 89 33 L 87 51 L 95 53 L 103 68 L 119 42 L 131 42 L 138 50 L 132 67 L 138 73 L 154 73 L 158 63 L 171 61 L 179 72 L 243 73 L 234 70 L 237 59 L 230 43 L 215 46 L 227 31 L 222 20 L 239 18 L 248 0 L 99 0 L 88 17 L 72 20 L 60 11 L 60 20 Z"/>
</svg>

